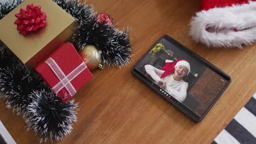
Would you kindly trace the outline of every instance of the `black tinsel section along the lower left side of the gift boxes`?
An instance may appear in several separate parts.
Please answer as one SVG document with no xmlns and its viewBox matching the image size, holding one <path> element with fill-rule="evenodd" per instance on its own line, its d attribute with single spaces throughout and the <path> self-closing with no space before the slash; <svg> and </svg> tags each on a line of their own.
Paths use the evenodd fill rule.
<svg viewBox="0 0 256 144">
<path fill-rule="evenodd" d="M 70 134 L 78 104 L 74 100 L 61 103 L 42 78 L 30 73 L 1 42 L 0 50 L 0 98 L 7 107 L 24 117 L 27 129 L 33 129 L 40 142 Z"/>
</svg>

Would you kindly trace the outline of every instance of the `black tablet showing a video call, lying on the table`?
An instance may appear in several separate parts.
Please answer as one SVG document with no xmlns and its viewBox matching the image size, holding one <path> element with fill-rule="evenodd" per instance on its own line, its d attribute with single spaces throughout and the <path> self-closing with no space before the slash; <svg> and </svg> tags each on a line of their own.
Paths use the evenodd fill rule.
<svg viewBox="0 0 256 144">
<path fill-rule="evenodd" d="M 229 75 L 168 35 L 156 41 L 131 71 L 196 122 L 231 82 Z"/>
</svg>

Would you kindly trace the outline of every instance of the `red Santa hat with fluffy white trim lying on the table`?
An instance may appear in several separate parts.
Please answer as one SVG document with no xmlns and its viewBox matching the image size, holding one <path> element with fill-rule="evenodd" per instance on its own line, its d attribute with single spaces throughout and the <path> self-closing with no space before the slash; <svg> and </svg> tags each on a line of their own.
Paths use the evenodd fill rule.
<svg viewBox="0 0 256 144">
<path fill-rule="evenodd" d="M 239 47 L 256 41 L 256 0 L 201 0 L 190 35 L 208 47 Z"/>
</svg>

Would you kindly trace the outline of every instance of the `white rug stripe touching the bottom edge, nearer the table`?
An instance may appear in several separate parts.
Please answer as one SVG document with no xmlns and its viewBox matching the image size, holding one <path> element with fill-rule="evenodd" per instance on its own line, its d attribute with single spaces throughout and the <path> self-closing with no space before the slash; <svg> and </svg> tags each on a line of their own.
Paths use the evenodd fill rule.
<svg viewBox="0 0 256 144">
<path fill-rule="evenodd" d="M 214 140 L 218 144 L 240 144 L 232 135 L 228 133 L 225 129 L 219 133 L 219 135 Z"/>
</svg>

